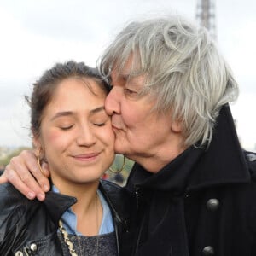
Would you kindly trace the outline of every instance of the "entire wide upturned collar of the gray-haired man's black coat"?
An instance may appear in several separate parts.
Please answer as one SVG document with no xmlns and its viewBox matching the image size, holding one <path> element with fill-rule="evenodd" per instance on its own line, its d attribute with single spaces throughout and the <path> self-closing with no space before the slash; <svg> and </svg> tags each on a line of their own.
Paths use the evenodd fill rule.
<svg viewBox="0 0 256 256">
<path fill-rule="evenodd" d="M 127 188 L 131 185 L 146 189 L 183 193 L 184 189 L 201 189 L 224 183 L 247 183 L 250 174 L 242 153 L 230 108 L 225 105 L 219 113 L 212 142 L 205 148 L 191 146 L 167 166 L 150 174 L 135 165 Z"/>
</svg>

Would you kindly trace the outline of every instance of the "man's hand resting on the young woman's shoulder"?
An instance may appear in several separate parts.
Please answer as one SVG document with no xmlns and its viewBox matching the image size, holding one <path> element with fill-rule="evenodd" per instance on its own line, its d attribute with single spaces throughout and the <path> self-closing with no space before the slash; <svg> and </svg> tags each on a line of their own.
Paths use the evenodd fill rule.
<svg viewBox="0 0 256 256">
<path fill-rule="evenodd" d="M 44 173 L 40 171 L 33 151 L 23 150 L 10 160 L 0 177 L 0 183 L 12 183 L 28 199 L 37 197 L 39 201 L 44 201 L 44 192 L 49 191 L 48 165 L 44 163 L 42 170 Z"/>
</svg>

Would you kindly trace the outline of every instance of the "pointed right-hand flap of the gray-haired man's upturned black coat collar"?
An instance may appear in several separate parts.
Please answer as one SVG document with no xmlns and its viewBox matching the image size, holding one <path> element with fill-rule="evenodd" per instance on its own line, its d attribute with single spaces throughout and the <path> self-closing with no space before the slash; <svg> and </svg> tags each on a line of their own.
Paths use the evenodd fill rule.
<svg viewBox="0 0 256 256">
<path fill-rule="evenodd" d="M 191 173 L 189 189 L 200 189 L 225 183 L 247 183 L 250 180 L 247 161 L 236 134 L 230 107 L 225 105 L 218 116 L 212 142 L 203 152 Z"/>
</svg>

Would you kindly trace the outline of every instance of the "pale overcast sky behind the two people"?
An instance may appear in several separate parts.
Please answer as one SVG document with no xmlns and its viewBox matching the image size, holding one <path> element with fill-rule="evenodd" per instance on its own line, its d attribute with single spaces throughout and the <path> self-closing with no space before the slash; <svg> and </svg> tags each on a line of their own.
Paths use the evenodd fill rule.
<svg viewBox="0 0 256 256">
<path fill-rule="evenodd" d="M 98 56 L 127 21 L 177 13 L 195 19 L 194 0 L 0 0 L 0 146 L 30 145 L 24 95 L 56 61 Z M 256 1 L 217 0 L 218 44 L 240 84 L 231 106 L 245 148 L 256 144 Z"/>
</svg>

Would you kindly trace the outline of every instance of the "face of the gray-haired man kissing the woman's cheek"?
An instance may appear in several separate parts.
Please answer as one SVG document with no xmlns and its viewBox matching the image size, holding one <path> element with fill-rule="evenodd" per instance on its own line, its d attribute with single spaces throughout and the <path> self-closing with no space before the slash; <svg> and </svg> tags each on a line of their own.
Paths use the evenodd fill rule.
<svg viewBox="0 0 256 256">
<path fill-rule="evenodd" d="M 181 129 L 177 122 L 172 122 L 172 113 L 152 111 L 156 102 L 152 96 L 138 96 L 145 77 L 127 79 L 131 61 L 127 61 L 121 73 L 113 69 L 113 88 L 105 102 L 116 136 L 114 148 L 116 153 L 137 161 L 148 172 L 157 172 L 182 150 L 179 148 Z M 153 166 L 153 160 L 158 164 Z"/>
</svg>

